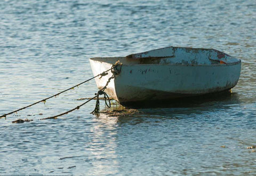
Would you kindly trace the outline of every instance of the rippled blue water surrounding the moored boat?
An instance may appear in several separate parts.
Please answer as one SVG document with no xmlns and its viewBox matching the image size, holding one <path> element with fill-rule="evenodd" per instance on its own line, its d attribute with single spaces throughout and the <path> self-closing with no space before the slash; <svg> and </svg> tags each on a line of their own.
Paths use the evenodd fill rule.
<svg viewBox="0 0 256 176">
<path fill-rule="evenodd" d="M 247 149 L 256 145 L 254 0 L 2 0 L 0 29 L 1 114 L 92 77 L 91 57 L 187 46 L 242 60 L 231 95 L 130 117 L 95 117 L 93 101 L 36 120 L 92 97 L 91 81 L 0 119 L 1 175 L 256 174 L 256 152 Z M 19 118 L 35 120 L 11 123 Z"/>
</svg>

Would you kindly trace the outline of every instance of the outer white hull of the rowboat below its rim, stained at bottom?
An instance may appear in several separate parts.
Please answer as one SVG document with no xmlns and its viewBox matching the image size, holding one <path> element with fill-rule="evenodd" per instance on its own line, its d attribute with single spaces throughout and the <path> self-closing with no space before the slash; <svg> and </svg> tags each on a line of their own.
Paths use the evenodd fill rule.
<svg viewBox="0 0 256 176">
<path fill-rule="evenodd" d="M 110 69 L 117 60 L 123 61 L 122 70 L 112 79 L 105 90 L 118 102 L 167 100 L 191 95 L 202 95 L 229 90 L 239 79 L 241 61 L 215 65 L 185 64 L 125 64 L 127 58 L 90 59 L 94 76 Z M 102 89 L 111 76 L 95 78 Z"/>
</svg>

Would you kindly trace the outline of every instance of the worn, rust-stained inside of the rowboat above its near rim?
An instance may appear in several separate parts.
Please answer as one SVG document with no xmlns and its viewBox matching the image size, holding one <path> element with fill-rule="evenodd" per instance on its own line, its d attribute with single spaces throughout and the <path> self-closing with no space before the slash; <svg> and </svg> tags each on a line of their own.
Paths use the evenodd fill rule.
<svg viewBox="0 0 256 176">
<path fill-rule="evenodd" d="M 134 64 L 175 64 L 175 65 L 228 65 L 240 62 L 239 59 L 214 49 L 195 49 L 189 47 L 165 47 L 126 57 L 91 58 L 91 60 L 124 65 Z"/>
</svg>

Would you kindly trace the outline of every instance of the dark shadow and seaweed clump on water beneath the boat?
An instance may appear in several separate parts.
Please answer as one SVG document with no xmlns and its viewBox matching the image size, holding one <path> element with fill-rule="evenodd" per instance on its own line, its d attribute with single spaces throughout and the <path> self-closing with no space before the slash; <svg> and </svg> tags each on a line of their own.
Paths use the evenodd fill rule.
<svg viewBox="0 0 256 176">
<path fill-rule="evenodd" d="M 177 118 L 177 116 L 186 117 L 191 114 L 213 115 L 214 112 L 234 108 L 239 103 L 241 103 L 241 100 L 237 93 L 220 92 L 198 97 L 179 98 L 171 101 L 144 102 L 129 107 L 123 107 L 116 103 L 111 108 L 106 108 L 105 110 L 108 113 L 103 114 L 101 117 L 116 117 L 119 123 L 125 123 L 129 119 L 143 121 L 143 117 Z"/>
</svg>

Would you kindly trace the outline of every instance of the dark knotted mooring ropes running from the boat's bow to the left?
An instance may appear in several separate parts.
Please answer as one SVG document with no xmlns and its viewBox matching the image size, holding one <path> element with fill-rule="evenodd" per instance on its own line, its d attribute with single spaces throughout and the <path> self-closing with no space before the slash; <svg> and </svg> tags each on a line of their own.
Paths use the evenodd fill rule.
<svg viewBox="0 0 256 176">
<path fill-rule="evenodd" d="M 119 69 L 118 69 L 118 66 L 119 66 Z M 79 84 L 77 84 L 77 85 L 75 85 L 75 86 L 73 86 L 73 87 L 70 87 L 69 89 L 66 89 L 66 90 L 64 90 L 64 91 L 62 91 L 62 92 L 59 92 L 59 93 L 57 93 L 57 94 L 54 94 L 54 95 L 52 95 L 51 97 L 47 97 L 47 98 L 42 99 L 42 100 L 40 100 L 40 101 L 37 101 L 37 102 L 35 102 L 35 103 L 31 103 L 31 104 L 28 105 L 28 106 L 25 106 L 25 107 L 22 107 L 22 108 L 20 108 L 20 109 L 11 111 L 10 113 L 3 114 L 3 115 L 0 116 L 0 118 L 5 118 L 5 119 L 6 119 L 7 115 L 10 115 L 10 114 L 13 114 L 13 113 L 17 113 L 18 111 L 23 110 L 23 109 L 26 109 L 26 108 L 31 107 L 31 106 L 34 106 L 34 105 L 36 105 L 36 104 L 39 103 L 39 102 L 43 102 L 43 103 L 45 104 L 45 103 L 46 103 L 46 100 L 48 100 L 48 99 L 50 99 L 50 98 L 53 98 L 53 97 L 56 98 L 59 94 L 61 94 L 61 93 L 63 93 L 63 92 L 66 92 L 66 91 L 68 91 L 68 90 L 73 90 L 75 87 L 78 87 L 78 86 L 81 85 L 81 84 L 84 84 L 84 83 L 86 83 L 86 82 L 89 82 L 89 81 L 90 81 L 91 79 L 93 79 L 93 78 L 96 78 L 96 77 L 98 77 L 98 76 L 100 76 L 100 78 L 101 78 L 102 76 L 106 76 L 106 75 L 108 75 L 107 72 L 111 70 L 111 73 L 113 73 L 113 75 L 112 75 L 111 77 L 109 77 L 109 79 L 108 79 L 106 85 L 105 85 L 101 90 L 99 90 L 98 93 L 95 93 L 95 96 L 94 96 L 93 98 L 87 100 L 86 102 L 82 103 L 81 105 L 79 105 L 79 106 L 77 106 L 77 107 L 75 107 L 75 108 L 73 108 L 73 109 L 71 109 L 71 110 L 66 111 L 65 113 L 61 113 L 61 114 L 59 114 L 59 115 L 55 115 L 55 116 L 52 116 L 52 117 L 41 118 L 40 120 L 49 119 L 49 118 L 57 118 L 57 117 L 59 117 L 59 116 L 68 114 L 68 113 L 70 113 L 71 111 L 74 111 L 74 110 L 76 110 L 76 109 L 79 109 L 81 106 L 85 105 L 87 102 L 93 100 L 94 98 L 97 98 L 96 107 L 97 107 L 97 105 L 98 105 L 98 107 L 99 107 L 99 95 L 101 95 L 101 94 L 104 94 L 105 103 L 106 103 L 106 105 L 110 108 L 110 106 L 111 106 L 111 105 L 110 105 L 110 100 L 109 100 L 109 97 L 108 97 L 107 93 L 105 93 L 104 90 L 107 88 L 107 86 L 108 86 L 110 80 L 113 79 L 113 78 L 115 78 L 115 76 L 118 75 L 119 73 L 121 73 L 121 68 L 122 68 L 122 63 L 120 63 L 119 60 L 118 60 L 113 66 L 111 66 L 110 69 L 108 69 L 108 70 L 106 70 L 106 71 L 103 71 L 101 74 L 98 74 L 98 75 L 96 75 L 96 76 L 94 76 L 94 77 L 92 77 L 92 78 L 90 78 L 90 79 L 87 79 L 86 81 L 84 81 L 84 82 L 82 82 L 82 83 L 79 83 Z M 107 104 L 107 99 L 108 99 L 109 104 Z M 98 109 L 99 109 L 99 108 L 98 108 Z M 94 109 L 94 110 L 95 110 L 95 109 Z M 23 122 L 25 122 L 25 121 L 23 121 Z M 16 122 L 16 121 L 13 121 L 13 123 L 17 123 L 17 122 Z"/>
</svg>

